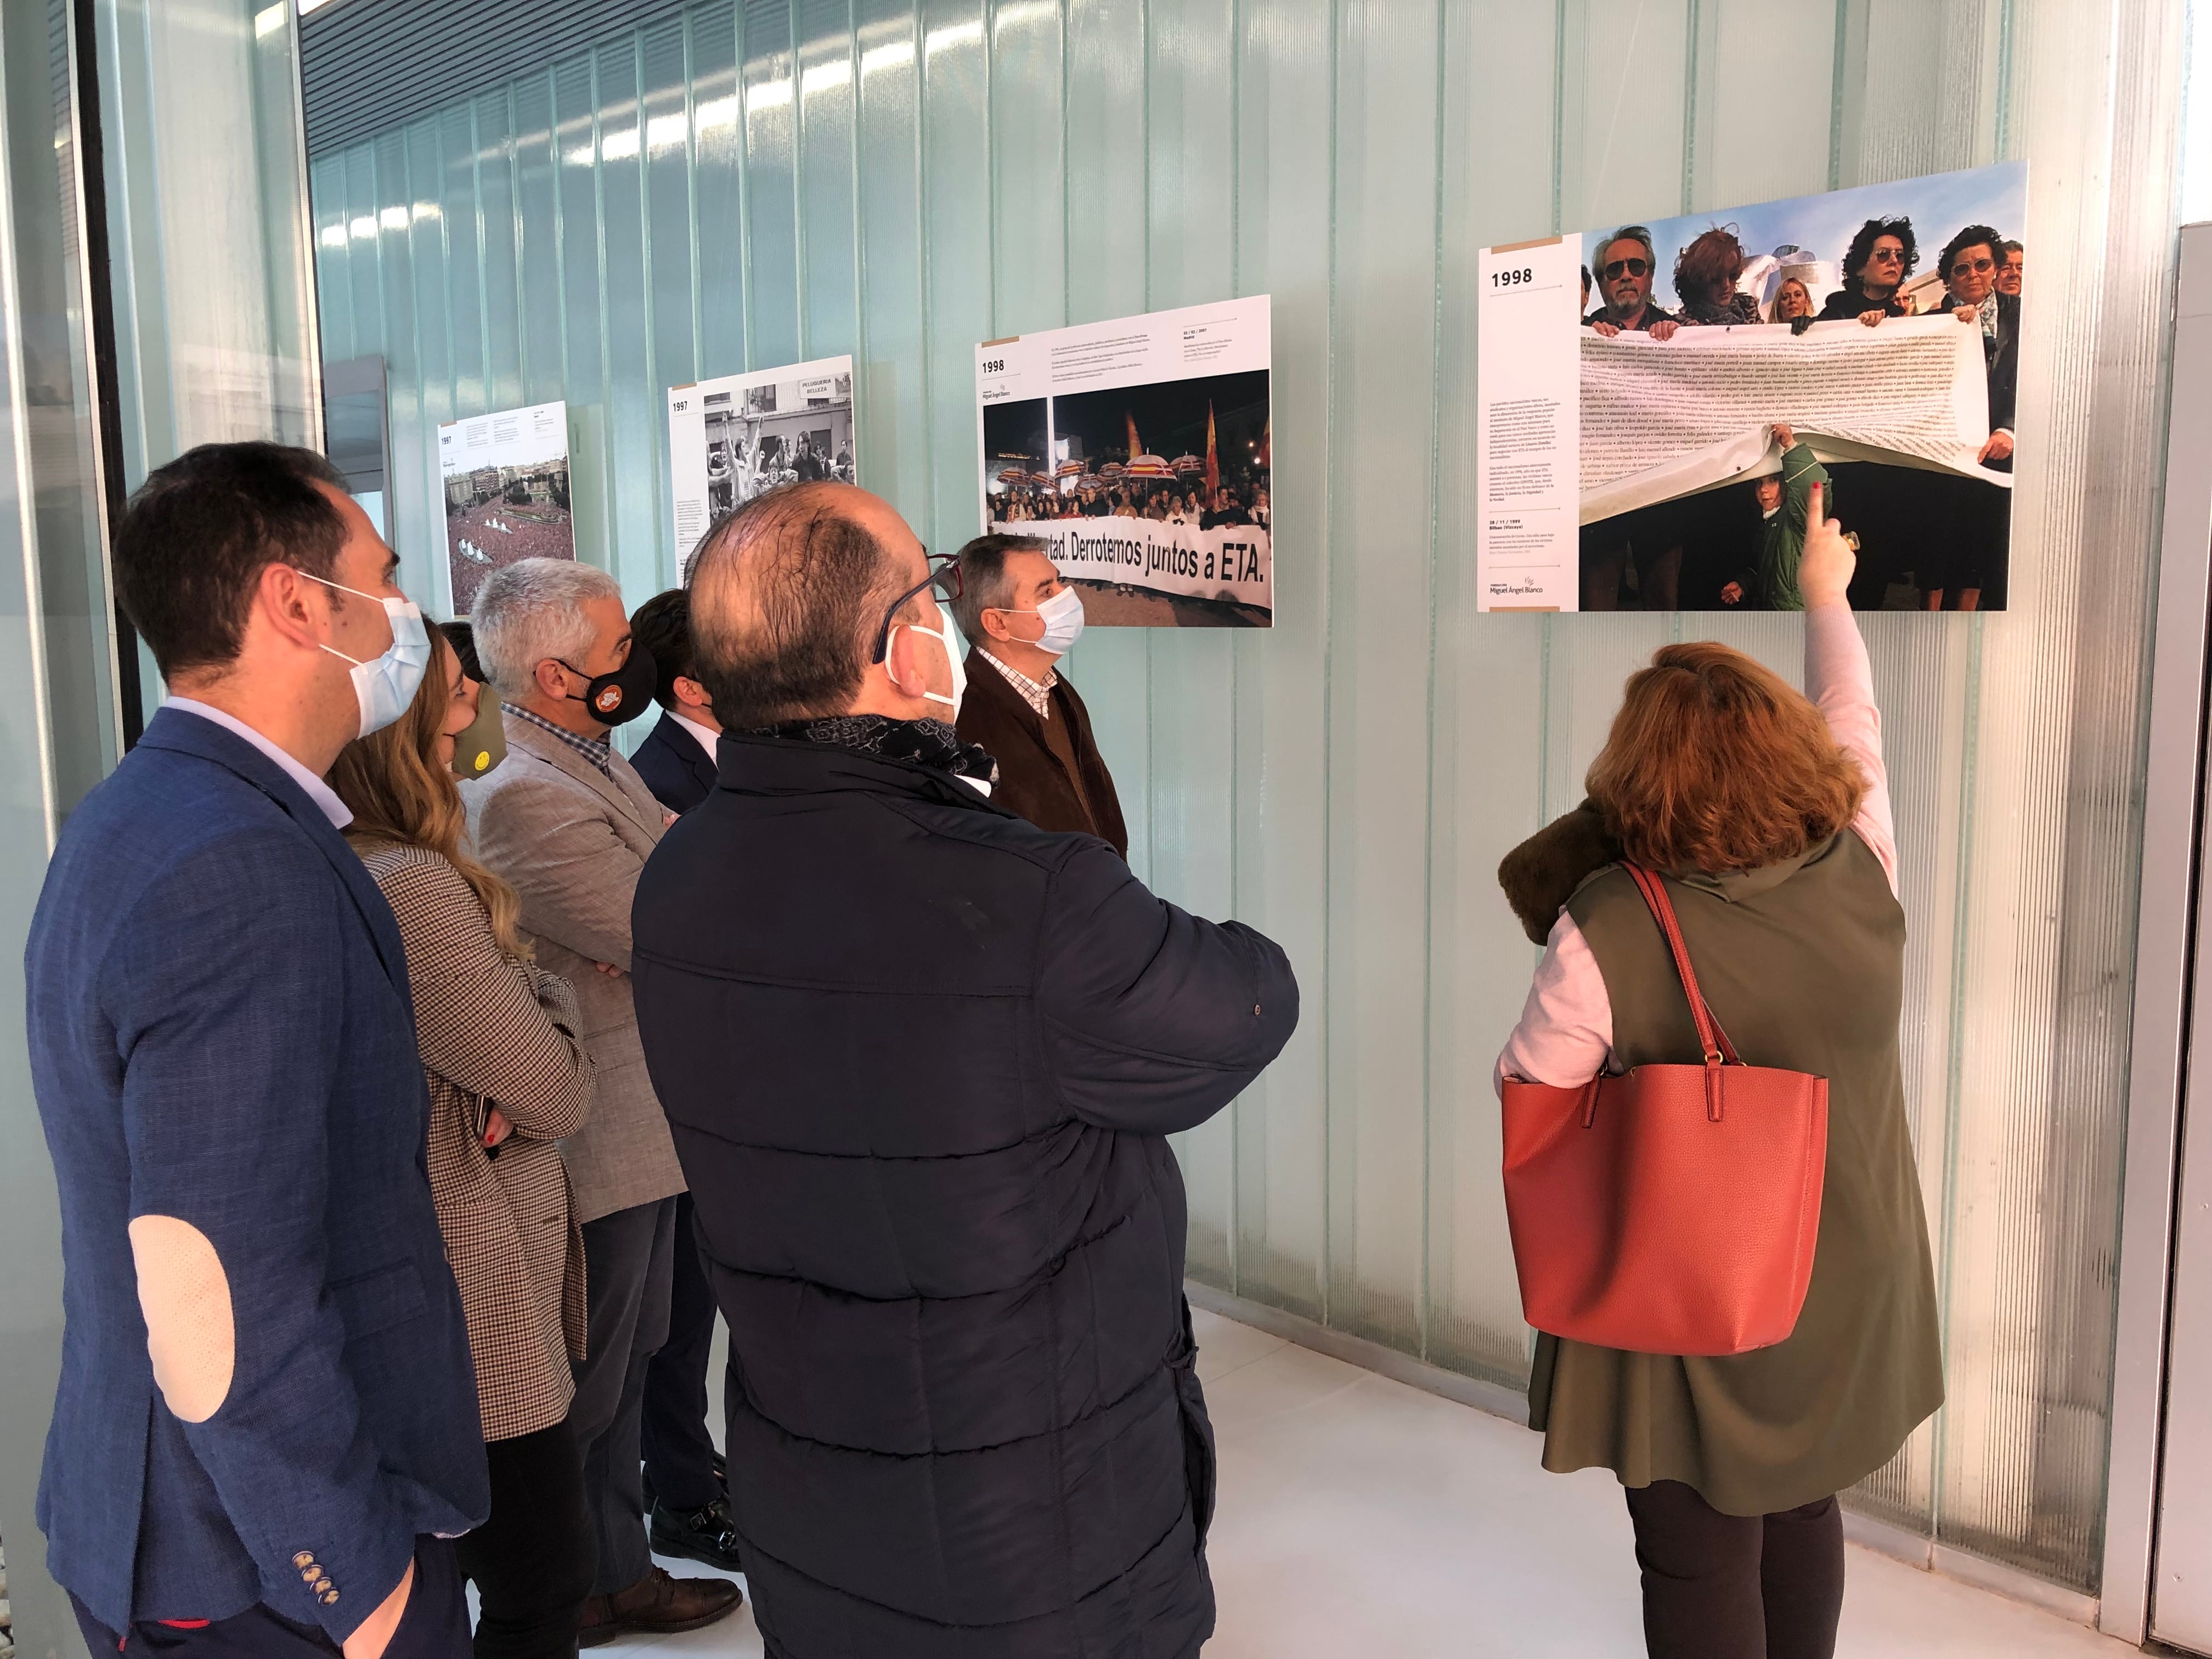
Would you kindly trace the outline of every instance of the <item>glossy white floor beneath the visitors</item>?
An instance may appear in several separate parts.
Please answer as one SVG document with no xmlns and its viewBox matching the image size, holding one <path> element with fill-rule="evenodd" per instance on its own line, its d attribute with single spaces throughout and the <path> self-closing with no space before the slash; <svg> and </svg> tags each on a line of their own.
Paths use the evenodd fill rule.
<svg viewBox="0 0 2212 1659">
<path fill-rule="evenodd" d="M 1208 1659 L 1644 1652 L 1610 1475 L 1546 1475 L 1526 1429 L 1248 1325 L 1201 1312 L 1197 1332 L 1221 1442 Z M 761 1635 L 748 1606 L 710 1630 L 597 1652 L 646 1648 L 750 1657 Z M 2121 1659 L 2132 1648 L 1854 1546 L 1838 1652 Z"/>
</svg>

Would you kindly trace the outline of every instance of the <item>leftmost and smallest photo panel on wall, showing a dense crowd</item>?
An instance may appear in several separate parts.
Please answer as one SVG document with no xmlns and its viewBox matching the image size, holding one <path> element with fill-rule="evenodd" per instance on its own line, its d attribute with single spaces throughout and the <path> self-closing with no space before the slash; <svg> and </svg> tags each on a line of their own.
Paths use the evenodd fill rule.
<svg viewBox="0 0 2212 1659">
<path fill-rule="evenodd" d="M 515 560 L 573 560 L 568 405 L 538 403 L 438 427 L 453 615 Z"/>
</svg>

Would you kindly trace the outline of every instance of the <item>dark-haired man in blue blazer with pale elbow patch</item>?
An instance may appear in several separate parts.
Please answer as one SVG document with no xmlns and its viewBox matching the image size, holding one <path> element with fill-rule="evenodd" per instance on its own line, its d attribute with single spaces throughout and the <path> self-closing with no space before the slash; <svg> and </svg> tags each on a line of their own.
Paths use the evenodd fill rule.
<svg viewBox="0 0 2212 1659">
<path fill-rule="evenodd" d="M 469 1646 L 440 1540 L 484 1517 L 484 1447 L 407 964 L 321 781 L 420 679 L 394 568 L 276 445 L 190 451 L 115 533 L 170 701 L 71 816 L 27 958 L 66 1312 L 38 1513 L 93 1652 Z"/>
</svg>

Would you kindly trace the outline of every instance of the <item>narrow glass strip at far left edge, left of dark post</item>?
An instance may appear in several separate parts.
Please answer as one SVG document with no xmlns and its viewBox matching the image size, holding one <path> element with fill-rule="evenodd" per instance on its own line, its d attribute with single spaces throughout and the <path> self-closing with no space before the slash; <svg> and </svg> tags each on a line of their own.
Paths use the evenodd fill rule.
<svg viewBox="0 0 2212 1659">
<path fill-rule="evenodd" d="M 0 0 L 0 1006 L 69 812 L 115 763 L 71 7 Z M 60 1210 L 20 1018 L 0 1022 L 0 1540 L 15 1648 L 77 1646 L 33 1522 L 62 1349 Z"/>
</svg>

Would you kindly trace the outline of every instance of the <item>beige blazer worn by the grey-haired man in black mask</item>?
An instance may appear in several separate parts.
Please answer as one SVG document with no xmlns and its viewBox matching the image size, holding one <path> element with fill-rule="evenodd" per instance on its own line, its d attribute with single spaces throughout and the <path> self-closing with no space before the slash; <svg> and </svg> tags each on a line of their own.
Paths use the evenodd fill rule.
<svg viewBox="0 0 2212 1659">
<path fill-rule="evenodd" d="M 666 814 L 622 754 L 613 772 L 509 714 L 507 759 L 460 785 L 476 856 L 522 894 L 538 960 L 575 984 L 584 1048 L 599 1073 L 591 1121 L 562 1148 L 577 1221 L 684 1190 L 630 1000 L 630 898 Z M 597 962 L 622 978 L 599 973 Z"/>
</svg>

